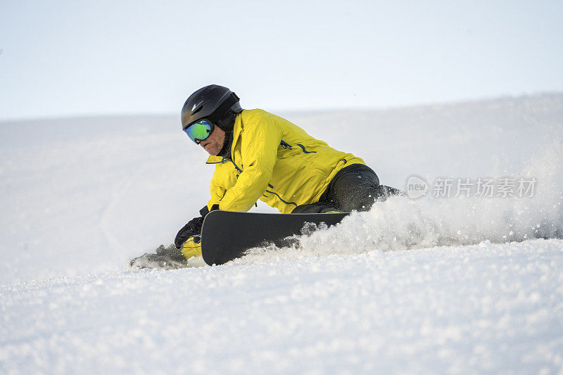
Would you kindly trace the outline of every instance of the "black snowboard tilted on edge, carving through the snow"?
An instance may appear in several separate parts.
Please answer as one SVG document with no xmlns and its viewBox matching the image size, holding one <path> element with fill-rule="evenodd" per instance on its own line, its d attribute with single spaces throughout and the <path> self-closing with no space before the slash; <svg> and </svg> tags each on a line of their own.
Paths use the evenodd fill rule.
<svg viewBox="0 0 563 375">
<path fill-rule="evenodd" d="M 208 265 L 222 265 L 241 258 L 245 251 L 274 243 L 287 246 L 286 237 L 301 234 L 306 223 L 338 224 L 348 212 L 277 214 L 215 210 L 201 229 L 201 255 Z"/>
</svg>

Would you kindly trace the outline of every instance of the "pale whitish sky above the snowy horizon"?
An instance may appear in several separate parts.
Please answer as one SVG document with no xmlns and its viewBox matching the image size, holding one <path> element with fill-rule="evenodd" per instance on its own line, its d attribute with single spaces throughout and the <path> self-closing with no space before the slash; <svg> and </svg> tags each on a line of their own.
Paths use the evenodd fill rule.
<svg viewBox="0 0 563 375">
<path fill-rule="evenodd" d="M 0 120 L 563 91 L 563 1 L 0 0 Z"/>
</svg>

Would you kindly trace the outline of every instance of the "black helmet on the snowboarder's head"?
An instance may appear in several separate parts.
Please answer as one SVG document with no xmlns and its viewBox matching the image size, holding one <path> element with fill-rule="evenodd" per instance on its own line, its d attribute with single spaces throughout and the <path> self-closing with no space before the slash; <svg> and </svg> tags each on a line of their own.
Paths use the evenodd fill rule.
<svg viewBox="0 0 563 375">
<path fill-rule="evenodd" d="M 227 87 L 210 84 L 191 94 L 182 107 L 182 130 L 207 119 L 223 130 L 232 129 L 234 117 L 241 113 L 239 96 Z"/>
</svg>

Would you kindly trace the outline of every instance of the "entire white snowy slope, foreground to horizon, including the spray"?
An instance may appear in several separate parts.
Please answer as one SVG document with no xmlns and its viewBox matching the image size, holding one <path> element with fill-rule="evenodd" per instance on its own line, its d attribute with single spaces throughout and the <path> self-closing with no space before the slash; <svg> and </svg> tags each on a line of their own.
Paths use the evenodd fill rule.
<svg viewBox="0 0 563 375">
<path fill-rule="evenodd" d="M 536 194 L 392 198 L 298 249 L 131 270 L 208 199 L 177 116 L 0 123 L 0 372 L 563 371 L 563 94 L 281 115 L 384 184 Z"/>
</svg>

